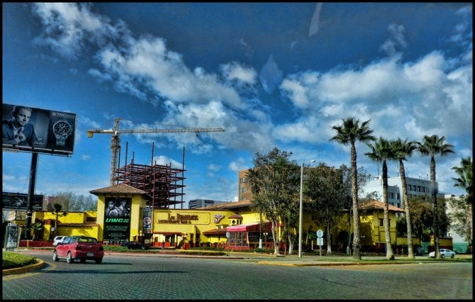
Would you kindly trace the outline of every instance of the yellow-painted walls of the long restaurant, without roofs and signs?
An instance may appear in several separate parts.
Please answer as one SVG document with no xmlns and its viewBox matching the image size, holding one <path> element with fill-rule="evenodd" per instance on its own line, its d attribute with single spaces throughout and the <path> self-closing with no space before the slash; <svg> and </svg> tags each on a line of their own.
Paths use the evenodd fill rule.
<svg viewBox="0 0 475 302">
<path fill-rule="evenodd" d="M 116 197 L 130 197 L 116 196 Z M 57 235 L 89 235 L 96 237 L 99 241 L 103 240 L 104 232 L 104 211 L 106 196 L 99 195 L 97 201 L 97 211 L 86 212 L 69 212 L 67 216 L 58 216 L 60 225 L 58 226 Z M 145 208 L 145 200 L 140 195 L 134 195 L 131 203 L 130 217 L 130 240 L 134 240 L 140 234 L 143 234 L 143 209 Z M 250 208 L 238 208 L 235 211 L 214 211 L 202 209 L 156 209 L 153 211 L 152 225 L 152 242 L 162 242 L 164 233 L 167 235 L 174 233 L 174 242 L 177 244 L 181 240 L 181 235 L 186 235 L 187 240 L 193 234 L 194 242 L 196 235 L 199 234 L 201 242 L 223 242 L 226 240 L 225 235 L 204 235 L 209 230 L 218 228 L 226 228 L 232 224 L 230 216 L 239 214 L 242 216 L 240 223 L 258 223 L 260 222 L 259 213 L 252 211 Z M 383 211 L 362 211 L 361 213 L 361 235 L 362 245 L 374 246 L 378 243 L 386 242 L 384 226 L 379 226 L 379 219 L 384 218 Z M 215 215 L 223 216 L 218 222 L 215 222 Z M 348 213 L 333 225 L 333 240 L 336 239 L 340 231 L 348 229 Z M 33 220 L 52 220 L 52 225 L 45 225 L 44 239 L 50 236 L 50 228 L 54 226 L 55 214 L 47 211 L 33 211 Z M 391 242 L 396 245 L 407 244 L 407 239 L 396 236 L 396 214 L 389 213 L 391 220 Z M 264 218 L 262 220 L 265 221 Z M 352 220 L 352 219 L 351 219 Z M 95 222 L 95 223 L 94 223 Z M 62 225 L 61 225 L 62 224 Z M 71 225 L 77 224 L 77 225 Z M 303 215 L 303 233 L 308 232 L 309 226 L 312 225 L 312 231 L 321 229 L 326 233 L 325 225 L 319 225 L 318 222 L 311 220 L 311 217 L 304 213 Z M 336 231 L 335 231 L 336 230 Z M 297 233 L 298 230 L 295 230 Z M 279 234 L 280 235 L 280 234 Z M 416 240 L 417 238 L 415 238 Z M 416 240 L 417 241 L 417 240 Z M 335 244 L 336 242 L 332 242 Z M 416 244 L 416 242 L 414 242 Z M 445 244 L 446 242 L 444 242 Z M 325 241 L 325 245 L 327 242 Z M 447 243 L 449 245 L 449 243 Z"/>
</svg>

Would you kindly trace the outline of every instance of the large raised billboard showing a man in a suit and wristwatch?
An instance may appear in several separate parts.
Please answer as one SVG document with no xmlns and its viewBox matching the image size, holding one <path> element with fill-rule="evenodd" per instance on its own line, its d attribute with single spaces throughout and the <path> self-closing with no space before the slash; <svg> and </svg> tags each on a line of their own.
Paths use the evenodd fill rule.
<svg viewBox="0 0 475 302">
<path fill-rule="evenodd" d="M 2 104 L 1 142 L 4 150 L 72 155 L 76 114 Z"/>
</svg>

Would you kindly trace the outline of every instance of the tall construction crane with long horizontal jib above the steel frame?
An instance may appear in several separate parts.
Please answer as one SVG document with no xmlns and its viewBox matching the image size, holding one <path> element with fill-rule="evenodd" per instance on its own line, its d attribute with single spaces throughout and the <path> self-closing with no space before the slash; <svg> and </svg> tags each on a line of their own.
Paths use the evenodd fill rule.
<svg viewBox="0 0 475 302">
<path fill-rule="evenodd" d="M 114 128 L 109 130 L 87 130 L 87 137 L 92 138 L 94 133 L 110 133 L 112 134 L 111 138 L 111 186 L 114 182 L 114 174 L 117 168 L 117 159 L 118 152 L 121 147 L 120 145 L 120 134 L 125 133 L 198 133 L 200 132 L 224 132 L 223 128 L 175 128 L 175 129 L 135 129 L 135 130 L 119 130 L 118 125 L 121 118 L 116 118 L 116 123 L 114 123 Z"/>
</svg>

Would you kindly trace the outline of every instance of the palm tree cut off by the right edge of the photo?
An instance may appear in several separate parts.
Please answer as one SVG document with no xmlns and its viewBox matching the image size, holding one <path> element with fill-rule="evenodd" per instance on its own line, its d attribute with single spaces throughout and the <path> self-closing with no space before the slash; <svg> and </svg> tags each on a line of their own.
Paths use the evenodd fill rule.
<svg viewBox="0 0 475 302">
<path fill-rule="evenodd" d="M 470 221 L 470 228 L 469 234 L 466 235 L 467 239 L 469 240 L 469 248 L 471 250 L 471 246 L 473 244 L 473 213 L 474 213 L 474 203 L 473 203 L 473 171 L 474 166 L 471 162 L 471 157 L 462 158 L 460 162 L 461 167 L 452 167 L 452 169 L 459 175 L 458 178 L 452 177 L 455 181 L 454 186 L 458 186 L 466 191 L 466 203 L 468 203 L 468 213 L 467 219 Z"/>
</svg>

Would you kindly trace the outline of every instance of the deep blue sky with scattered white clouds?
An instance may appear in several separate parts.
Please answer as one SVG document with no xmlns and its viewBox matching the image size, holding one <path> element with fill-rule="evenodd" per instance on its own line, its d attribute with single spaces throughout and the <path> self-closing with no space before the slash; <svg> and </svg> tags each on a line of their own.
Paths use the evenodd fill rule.
<svg viewBox="0 0 475 302">
<path fill-rule="evenodd" d="M 472 4 L 2 4 L 3 101 L 77 114 L 72 157 L 39 155 L 35 194 L 109 185 L 111 135 L 86 130 L 225 128 L 121 135 L 121 165 L 181 167 L 184 201 L 234 201 L 238 171 L 273 147 L 350 166 L 333 125 L 371 119 L 376 137 L 445 136 L 437 181 L 473 154 Z M 358 166 L 378 175 L 357 145 Z M 3 191 L 28 193 L 31 154 L 2 152 Z M 417 152 L 409 177 L 426 178 Z M 389 162 L 389 176 L 398 175 Z M 185 204 L 186 206 L 186 204 Z"/>
</svg>

